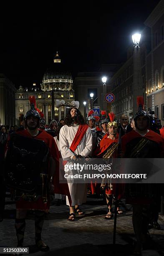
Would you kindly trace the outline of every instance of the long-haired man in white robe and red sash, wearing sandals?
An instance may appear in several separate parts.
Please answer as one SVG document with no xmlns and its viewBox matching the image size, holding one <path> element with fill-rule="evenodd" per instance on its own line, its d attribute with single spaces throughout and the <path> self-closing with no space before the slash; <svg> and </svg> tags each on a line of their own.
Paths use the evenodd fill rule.
<svg viewBox="0 0 164 256">
<path fill-rule="evenodd" d="M 64 161 L 73 164 L 78 157 L 86 157 L 92 150 L 92 134 L 88 125 L 84 123 L 83 116 L 80 111 L 73 107 L 65 119 L 66 125 L 60 130 L 60 149 Z M 75 174 L 77 170 L 69 170 L 68 174 Z M 86 202 L 87 184 L 68 182 L 72 204 L 69 204 L 66 197 L 66 204 L 70 207 L 70 215 L 68 220 L 75 220 L 75 211 L 82 215 L 83 212 L 78 207 Z"/>
</svg>

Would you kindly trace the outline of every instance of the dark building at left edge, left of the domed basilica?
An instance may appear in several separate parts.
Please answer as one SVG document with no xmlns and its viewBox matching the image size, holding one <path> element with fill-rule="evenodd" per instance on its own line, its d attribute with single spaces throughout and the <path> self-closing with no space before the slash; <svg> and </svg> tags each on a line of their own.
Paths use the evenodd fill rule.
<svg viewBox="0 0 164 256">
<path fill-rule="evenodd" d="M 0 124 L 15 125 L 15 85 L 0 74 Z"/>
</svg>

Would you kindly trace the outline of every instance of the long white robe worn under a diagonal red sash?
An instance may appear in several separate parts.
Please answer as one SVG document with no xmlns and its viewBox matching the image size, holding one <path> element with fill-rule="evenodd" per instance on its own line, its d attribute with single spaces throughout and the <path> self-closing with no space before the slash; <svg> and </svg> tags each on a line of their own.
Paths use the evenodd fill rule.
<svg viewBox="0 0 164 256">
<path fill-rule="evenodd" d="M 60 142 L 60 149 L 61 155 L 63 160 L 70 160 L 71 157 L 74 155 L 81 155 L 81 156 L 88 156 L 92 150 L 92 134 L 91 130 L 88 128 L 86 133 L 84 134 L 81 142 L 78 144 L 75 154 L 69 149 L 72 141 L 78 131 L 79 125 L 63 125 L 60 130 L 59 142 Z M 73 163 L 69 163 L 73 164 Z M 77 172 L 77 171 L 76 171 Z M 68 174 L 75 174 L 75 170 L 69 170 Z M 87 196 L 87 184 L 80 184 L 80 183 L 69 183 L 68 187 L 71 195 L 72 206 L 74 205 L 82 205 L 86 202 Z M 69 204 L 68 197 L 66 197 L 66 203 Z"/>
</svg>

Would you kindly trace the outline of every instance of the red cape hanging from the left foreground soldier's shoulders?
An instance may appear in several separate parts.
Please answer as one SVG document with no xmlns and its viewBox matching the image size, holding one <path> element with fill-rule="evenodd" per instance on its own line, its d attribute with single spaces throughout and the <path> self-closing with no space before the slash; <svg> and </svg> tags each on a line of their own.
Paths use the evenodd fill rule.
<svg viewBox="0 0 164 256">
<path fill-rule="evenodd" d="M 54 175 L 54 179 L 53 179 L 53 184 L 54 184 L 54 187 L 55 187 L 54 193 L 67 195 L 68 199 L 69 199 L 69 202 L 71 203 L 71 196 L 70 196 L 68 184 L 67 183 L 66 184 L 65 183 L 59 183 L 59 159 L 60 159 L 60 154 L 59 154 L 56 142 L 55 142 L 54 138 L 52 136 L 50 136 L 44 130 L 39 129 L 39 131 L 41 131 L 41 133 L 38 134 L 38 136 L 35 137 L 35 138 L 39 139 L 41 141 L 44 141 L 47 144 L 47 146 L 50 148 L 50 155 L 53 157 L 53 159 L 56 162 L 56 170 L 55 170 L 55 175 Z M 28 132 L 28 130 L 19 131 L 17 133 L 21 136 L 33 138 L 30 135 L 30 133 Z M 64 172 L 64 168 L 63 168 L 63 172 Z"/>
</svg>

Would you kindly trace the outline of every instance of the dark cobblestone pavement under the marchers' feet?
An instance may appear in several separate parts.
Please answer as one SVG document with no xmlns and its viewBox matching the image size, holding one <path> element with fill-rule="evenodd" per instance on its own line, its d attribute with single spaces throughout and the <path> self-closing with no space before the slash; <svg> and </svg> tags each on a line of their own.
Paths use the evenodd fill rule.
<svg viewBox="0 0 164 256">
<path fill-rule="evenodd" d="M 17 245 L 15 236 L 15 204 L 8 202 L 5 206 L 5 219 L 0 223 L 0 246 L 12 247 Z M 85 216 L 77 216 L 74 222 L 67 220 L 68 206 L 56 206 L 52 201 L 50 213 L 47 214 L 43 226 L 43 241 L 50 246 L 50 251 L 43 253 L 37 251 L 34 245 L 34 216 L 28 214 L 24 246 L 29 247 L 30 255 L 133 255 L 134 232 L 132 226 L 131 205 L 124 205 L 124 215 L 117 218 L 116 245 L 113 246 L 114 220 L 105 220 L 106 205 L 102 199 L 88 197 L 86 204 L 81 206 L 86 212 Z M 150 229 L 151 243 L 144 248 L 143 256 L 164 255 L 164 217 L 159 216 L 161 230 Z M 5 255 L 5 254 L 4 254 Z"/>
</svg>

